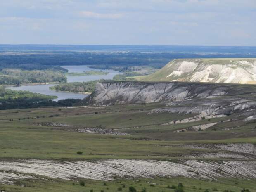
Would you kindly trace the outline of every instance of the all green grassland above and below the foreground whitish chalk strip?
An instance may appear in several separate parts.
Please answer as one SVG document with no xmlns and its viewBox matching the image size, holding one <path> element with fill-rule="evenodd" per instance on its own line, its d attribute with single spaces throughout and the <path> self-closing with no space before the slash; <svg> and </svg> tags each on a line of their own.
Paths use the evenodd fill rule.
<svg viewBox="0 0 256 192">
<path fill-rule="evenodd" d="M 38 108 L 0 111 L 0 160 L 52 159 L 54 161 L 94 161 L 96 159 L 154 159 L 177 161 L 193 154 L 218 153 L 217 149 L 184 147 L 187 144 L 256 144 L 256 122 L 242 119 L 223 122 L 204 131 L 174 133 L 209 122 L 235 119 L 235 114 L 215 119 L 201 119 L 190 123 L 161 125 L 171 120 L 185 119 L 194 114 L 149 113 L 163 104 L 136 104 L 104 107 Z M 45 123 L 56 123 L 48 125 Z M 62 123 L 65 126 L 58 126 Z M 223 130 L 223 128 L 234 127 Z M 104 127 L 130 135 L 103 135 L 68 131 L 76 127 Z M 234 134 L 235 133 L 235 134 Z M 83 154 L 77 154 L 78 151 Z M 230 153 L 231 154 L 231 153 Z M 198 157 L 204 161 L 233 158 Z M 243 160 L 243 159 L 240 159 Z M 251 159 L 251 161 L 254 161 Z M 84 180 L 81 186 L 78 180 Z M 36 179 L 15 179 L 12 185 L 0 184 L 5 192 L 175 192 L 168 185 L 183 183 L 185 192 L 240 192 L 249 188 L 256 192 L 256 180 L 228 179 L 199 180 L 191 178 L 117 178 L 113 181 L 87 179 L 61 180 L 37 176 Z M 106 185 L 104 185 L 106 183 Z M 125 186 L 123 188 L 123 185 Z M 151 186 L 150 186 L 151 185 Z M 154 185 L 154 186 L 153 186 Z"/>
</svg>

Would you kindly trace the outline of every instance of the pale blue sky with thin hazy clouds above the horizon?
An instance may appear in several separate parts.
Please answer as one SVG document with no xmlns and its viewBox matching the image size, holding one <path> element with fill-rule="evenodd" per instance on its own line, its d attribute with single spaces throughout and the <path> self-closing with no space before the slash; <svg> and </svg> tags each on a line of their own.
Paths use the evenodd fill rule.
<svg viewBox="0 0 256 192">
<path fill-rule="evenodd" d="M 256 0 L 0 0 L 0 44 L 256 46 Z"/>
</svg>

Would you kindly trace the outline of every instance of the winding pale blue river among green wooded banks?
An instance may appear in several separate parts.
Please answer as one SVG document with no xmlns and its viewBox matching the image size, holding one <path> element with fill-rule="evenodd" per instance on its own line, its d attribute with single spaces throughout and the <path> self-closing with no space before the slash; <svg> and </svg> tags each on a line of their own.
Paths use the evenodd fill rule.
<svg viewBox="0 0 256 192">
<path fill-rule="evenodd" d="M 83 73 L 83 71 L 101 71 L 100 69 L 91 69 L 88 66 L 76 66 L 76 65 L 67 65 L 61 66 L 65 69 L 68 69 L 69 72 L 74 73 Z M 67 82 L 85 82 L 99 79 L 112 79 L 116 74 L 120 74 L 118 71 L 114 70 L 102 70 L 104 72 L 109 72 L 107 75 L 90 75 L 90 76 L 66 76 Z M 7 89 L 11 90 L 25 90 L 34 93 L 41 93 L 45 95 L 55 95 L 58 98 L 53 101 L 63 100 L 63 99 L 83 99 L 88 94 L 73 93 L 73 92 L 59 92 L 55 90 L 50 90 L 49 87 L 54 86 L 55 84 L 47 85 L 21 85 L 21 86 L 8 86 Z"/>
</svg>

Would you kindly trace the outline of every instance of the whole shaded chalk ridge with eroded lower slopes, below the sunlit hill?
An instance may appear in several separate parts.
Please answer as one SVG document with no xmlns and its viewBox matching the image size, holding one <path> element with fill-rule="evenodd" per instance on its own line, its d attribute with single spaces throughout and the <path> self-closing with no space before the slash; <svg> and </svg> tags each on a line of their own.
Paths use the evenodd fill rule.
<svg viewBox="0 0 256 192">
<path fill-rule="evenodd" d="M 218 118 L 237 114 L 256 119 L 256 85 L 183 82 L 102 82 L 81 104 L 162 103 L 150 113 L 196 114 L 178 123 L 199 121 L 203 117 Z M 244 119 L 248 121 L 248 119 Z M 177 122 L 169 122 L 170 124 Z M 201 125 L 207 128 L 213 124 Z M 203 129 L 203 127 L 193 127 Z"/>
</svg>

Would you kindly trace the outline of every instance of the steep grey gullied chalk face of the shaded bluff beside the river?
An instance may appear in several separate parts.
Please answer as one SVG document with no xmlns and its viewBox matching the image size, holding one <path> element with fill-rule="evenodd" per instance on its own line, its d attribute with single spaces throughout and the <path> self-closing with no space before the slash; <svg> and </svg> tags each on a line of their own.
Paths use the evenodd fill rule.
<svg viewBox="0 0 256 192">
<path fill-rule="evenodd" d="M 187 99 L 215 98 L 249 91 L 248 87 L 214 83 L 182 82 L 101 82 L 82 104 L 129 104 L 172 102 Z M 256 92 L 252 89 L 252 91 Z M 232 99 L 231 99 L 232 100 Z M 238 101 L 239 102 L 239 101 Z M 240 108 L 244 103 L 240 101 Z M 200 109 L 201 110 L 201 109 Z"/>
</svg>

